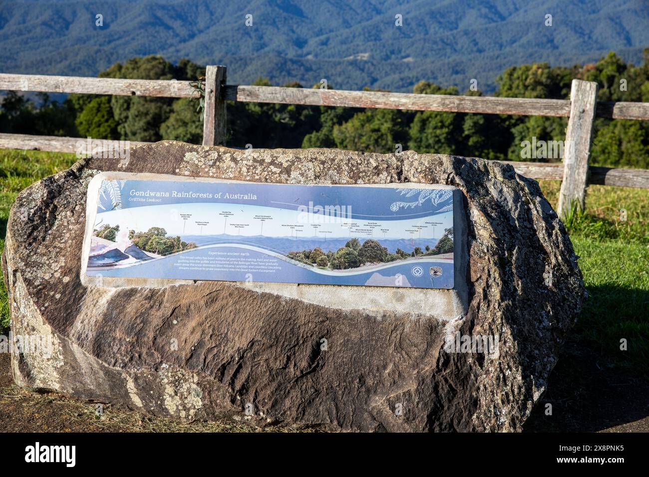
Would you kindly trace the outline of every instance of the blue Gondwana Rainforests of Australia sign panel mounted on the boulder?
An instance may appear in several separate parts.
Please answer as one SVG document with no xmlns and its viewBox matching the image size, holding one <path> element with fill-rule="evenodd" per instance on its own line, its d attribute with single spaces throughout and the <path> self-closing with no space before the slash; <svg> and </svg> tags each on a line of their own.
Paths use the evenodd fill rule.
<svg viewBox="0 0 649 477">
<path fill-rule="evenodd" d="M 440 186 L 103 173 L 86 220 L 88 276 L 454 285 L 453 190 Z"/>
</svg>

